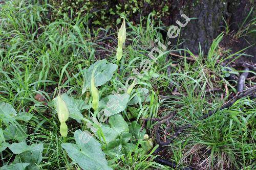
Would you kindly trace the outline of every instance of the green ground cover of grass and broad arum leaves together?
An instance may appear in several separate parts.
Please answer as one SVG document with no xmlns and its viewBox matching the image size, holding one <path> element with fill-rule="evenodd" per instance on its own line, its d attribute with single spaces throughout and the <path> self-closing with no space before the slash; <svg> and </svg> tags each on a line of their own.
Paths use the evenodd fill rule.
<svg viewBox="0 0 256 170">
<path fill-rule="evenodd" d="M 88 17 L 51 21 L 47 4 L 27 1 L 7 1 L 0 9 L 1 170 L 170 169 L 155 161 L 155 125 L 166 141 L 188 124 L 193 128 L 159 155 L 179 167 L 255 169 L 255 99 L 245 96 L 200 119 L 236 96 L 238 79 L 228 78 L 243 72 L 241 66 L 230 67 L 243 51 L 231 54 L 221 47 L 223 34 L 208 54 L 200 46 L 199 55 L 179 49 L 178 42 L 142 71 L 154 40 L 168 42 L 151 17 L 144 18 L 145 27 L 126 20 L 117 61 L 117 33 L 91 29 Z M 143 74 L 137 84 L 130 92 L 113 93 L 128 88 L 134 69 Z M 255 87 L 254 71 L 245 88 Z M 99 92 L 96 109 L 92 75 Z M 58 113 L 61 103 L 68 108 L 67 120 Z M 102 121 L 103 109 L 108 117 Z M 67 135 L 60 134 L 60 122 Z"/>
</svg>

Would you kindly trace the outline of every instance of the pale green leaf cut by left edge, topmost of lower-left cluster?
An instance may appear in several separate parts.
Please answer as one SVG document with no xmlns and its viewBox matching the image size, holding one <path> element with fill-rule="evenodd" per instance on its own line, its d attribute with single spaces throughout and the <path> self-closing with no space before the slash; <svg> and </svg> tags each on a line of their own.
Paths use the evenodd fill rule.
<svg viewBox="0 0 256 170">
<path fill-rule="evenodd" d="M 5 124 L 15 121 L 15 116 L 17 112 L 9 103 L 1 102 L 0 103 L 0 119 L 3 120 Z"/>
</svg>

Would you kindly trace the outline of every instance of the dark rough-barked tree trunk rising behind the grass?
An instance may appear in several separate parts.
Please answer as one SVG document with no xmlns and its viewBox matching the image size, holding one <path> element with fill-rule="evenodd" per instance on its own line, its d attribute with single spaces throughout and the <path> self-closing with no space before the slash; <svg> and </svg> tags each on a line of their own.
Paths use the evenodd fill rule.
<svg viewBox="0 0 256 170">
<path fill-rule="evenodd" d="M 179 11 L 173 17 L 173 24 L 176 20 L 184 20 L 181 13 L 191 19 L 182 28 L 181 38 L 186 40 L 182 47 L 188 48 L 193 53 L 198 53 L 198 45 L 207 53 L 212 40 L 221 33 L 221 26 L 224 26 L 224 19 L 232 23 L 230 29 L 238 31 L 238 24 L 242 23 L 248 15 L 252 3 L 249 0 L 204 0 L 204 1 L 174 1 L 175 11 Z"/>
</svg>

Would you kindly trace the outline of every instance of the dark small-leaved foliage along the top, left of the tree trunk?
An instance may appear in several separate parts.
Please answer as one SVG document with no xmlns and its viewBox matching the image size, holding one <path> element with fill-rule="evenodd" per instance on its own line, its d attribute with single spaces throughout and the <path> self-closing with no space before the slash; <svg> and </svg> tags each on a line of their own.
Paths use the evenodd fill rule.
<svg viewBox="0 0 256 170">
<path fill-rule="evenodd" d="M 119 0 L 119 1 L 95 1 L 95 0 L 50 0 L 53 6 L 52 19 L 78 15 L 90 15 L 89 22 L 93 25 L 113 25 L 119 23 L 119 15 L 125 15 L 130 21 L 140 22 L 141 16 L 153 13 L 155 19 L 168 17 L 172 12 L 173 1 L 150 0 Z M 165 19 L 166 24 L 170 23 Z"/>
</svg>

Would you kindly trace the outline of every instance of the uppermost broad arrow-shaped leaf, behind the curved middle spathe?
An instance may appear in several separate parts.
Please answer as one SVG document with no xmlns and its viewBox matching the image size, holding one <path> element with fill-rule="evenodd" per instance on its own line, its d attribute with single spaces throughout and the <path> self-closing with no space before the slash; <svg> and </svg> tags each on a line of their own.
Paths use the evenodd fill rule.
<svg viewBox="0 0 256 170">
<path fill-rule="evenodd" d="M 83 92 L 86 91 L 88 87 L 91 87 L 91 77 L 94 67 L 97 65 L 94 74 L 95 86 L 101 86 L 106 82 L 110 81 L 113 77 L 115 70 L 117 69 L 116 64 L 106 63 L 106 59 L 99 60 L 92 64 L 88 69 L 84 69 L 84 85 Z M 82 92 L 82 93 L 83 93 Z"/>
</svg>

